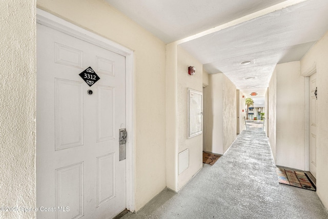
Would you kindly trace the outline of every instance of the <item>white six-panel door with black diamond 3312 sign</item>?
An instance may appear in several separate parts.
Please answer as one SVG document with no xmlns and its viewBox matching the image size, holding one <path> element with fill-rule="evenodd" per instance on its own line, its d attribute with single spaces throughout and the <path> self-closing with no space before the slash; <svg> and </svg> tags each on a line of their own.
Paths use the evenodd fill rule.
<svg viewBox="0 0 328 219">
<path fill-rule="evenodd" d="M 37 24 L 38 218 L 112 218 L 126 208 L 125 66 L 124 56 Z M 88 67 L 100 77 L 91 87 L 79 76 Z"/>
</svg>

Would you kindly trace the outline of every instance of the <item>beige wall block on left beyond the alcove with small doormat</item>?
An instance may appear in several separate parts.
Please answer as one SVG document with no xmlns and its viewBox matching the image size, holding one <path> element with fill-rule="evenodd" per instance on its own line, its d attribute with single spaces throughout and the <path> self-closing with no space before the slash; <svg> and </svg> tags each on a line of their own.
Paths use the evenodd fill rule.
<svg viewBox="0 0 328 219">
<path fill-rule="evenodd" d="M 204 146 L 208 152 L 223 154 L 237 136 L 236 86 L 223 73 L 210 74 L 206 90 Z"/>
</svg>

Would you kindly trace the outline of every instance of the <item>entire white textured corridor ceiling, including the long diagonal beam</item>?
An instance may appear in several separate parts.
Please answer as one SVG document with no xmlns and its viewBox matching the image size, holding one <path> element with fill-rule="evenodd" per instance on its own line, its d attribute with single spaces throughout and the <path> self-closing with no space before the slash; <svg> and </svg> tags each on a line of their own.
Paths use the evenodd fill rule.
<svg viewBox="0 0 328 219">
<path fill-rule="evenodd" d="M 163 42 L 178 41 L 247 97 L 264 96 L 276 64 L 299 61 L 328 30 L 327 0 L 106 1 Z"/>
</svg>

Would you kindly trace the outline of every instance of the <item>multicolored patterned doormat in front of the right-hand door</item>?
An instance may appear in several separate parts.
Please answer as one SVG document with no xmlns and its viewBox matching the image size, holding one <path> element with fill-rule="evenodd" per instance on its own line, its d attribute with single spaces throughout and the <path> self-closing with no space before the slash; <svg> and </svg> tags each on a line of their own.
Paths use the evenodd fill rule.
<svg viewBox="0 0 328 219">
<path fill-rule="evenodd" d="M 276 173 L 278 176 L 278 182 L 281 184 L 316 191 L 316 187 L 312 185 L 306 173 L 293 170 L 285 170 L 278 167 L 276 168 Z"/>
</svg>

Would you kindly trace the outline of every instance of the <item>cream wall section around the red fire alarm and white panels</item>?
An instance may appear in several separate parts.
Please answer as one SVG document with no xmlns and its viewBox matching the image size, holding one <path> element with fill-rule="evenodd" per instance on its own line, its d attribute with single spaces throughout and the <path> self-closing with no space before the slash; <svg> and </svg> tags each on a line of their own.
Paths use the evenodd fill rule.
<svg viewBox="0 0 328 219">
<path fill-rule="evenodd" d="M 194 75 L 188 67 L 194 66 Z M 189 167 L 178 176 L 178 190 L 202 168 L 202 134 L 188 138 L 188 88 L 202 92 L 202 64 L 178 46 L 178 153 L 189 149 Z"/>
</svg>

